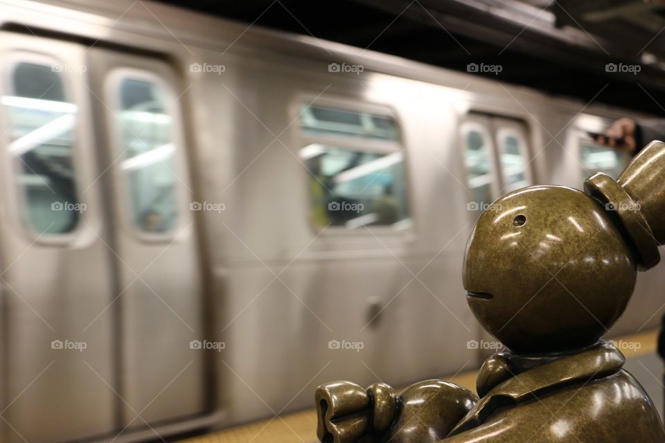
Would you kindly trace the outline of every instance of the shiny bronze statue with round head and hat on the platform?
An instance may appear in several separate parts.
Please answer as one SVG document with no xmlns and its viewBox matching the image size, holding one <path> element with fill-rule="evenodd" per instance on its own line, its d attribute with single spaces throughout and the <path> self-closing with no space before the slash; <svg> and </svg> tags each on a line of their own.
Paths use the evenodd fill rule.
<svg viewBox="0 0 665 443">
<path fill-rule="evenodd" d="M 653 402 L 600 337 L 623 314 L 637 270 L 665 243 L 665 143 L 617 181 L 585 192 L 531 186 L 478 219 L 463 284 L 481 325 L 507 350 L 485 361 L 474 393 L 441 380 L 396 395 L 377 383 L 319 386 L 325 443 L 665 442 Z"/>
</svg>

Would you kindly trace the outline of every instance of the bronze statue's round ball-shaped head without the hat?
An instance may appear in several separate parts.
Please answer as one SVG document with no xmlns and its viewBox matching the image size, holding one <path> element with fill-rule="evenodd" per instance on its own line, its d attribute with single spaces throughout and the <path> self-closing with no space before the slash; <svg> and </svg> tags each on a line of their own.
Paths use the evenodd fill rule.
<svg viewBox="0 0 665 443">
<path fill-rule="evenodd" d="M 520 353 L 596 343 L 626 309 L 636 274 L 605 208 L 560 186 L 495 201 L 473 228 L 463 264 L 476 318 Z"/>
</svg>

